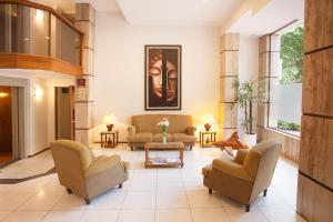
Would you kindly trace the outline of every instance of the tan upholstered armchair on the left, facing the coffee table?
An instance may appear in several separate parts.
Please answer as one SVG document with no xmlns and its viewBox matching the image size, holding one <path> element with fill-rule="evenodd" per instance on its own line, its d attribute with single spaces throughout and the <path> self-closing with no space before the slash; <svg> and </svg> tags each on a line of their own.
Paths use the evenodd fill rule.
<svg viewBox="0 0 333 222">
<path fill-rule="evenodd" d="M 129 163 L 119 155 L 95 158 L 85 145 L 58 140 L 51 143 L 51 152 L 60 184 L 69 193 L 84 198 L 85 203 L 107 190 L 119 185 L 129 178 Z"/>
</svg>

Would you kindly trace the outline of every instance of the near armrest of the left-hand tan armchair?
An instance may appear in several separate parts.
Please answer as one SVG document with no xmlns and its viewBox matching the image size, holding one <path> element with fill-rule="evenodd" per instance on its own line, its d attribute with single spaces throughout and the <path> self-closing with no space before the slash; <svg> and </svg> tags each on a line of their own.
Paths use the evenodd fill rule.
<svg viewBox="0 0 333 222">
<path fill-rule="evenodd" d="M 121 158 L 119 155 L 111 155 L 111 157 L 102 155 L 97 158 L 97 160 L 90 164 L 90 167 L 85 170 L 84 175 L 85 178 L 89 178 L 91 175 L 95 175 L 117 165 L 121 165 L 125 170 L 124 165 L 121 162 Z"/>
</svg>

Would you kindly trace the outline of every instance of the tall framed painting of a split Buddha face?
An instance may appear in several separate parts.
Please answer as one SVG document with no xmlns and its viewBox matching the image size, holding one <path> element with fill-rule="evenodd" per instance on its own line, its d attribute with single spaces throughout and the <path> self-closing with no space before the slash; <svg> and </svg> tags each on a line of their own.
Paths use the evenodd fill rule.
<svg viewBox="0 0 333 222">
<path fill-rule="evenodd" d="M 181 46 L 145 46 L 144 109 L 181 110 Z"/>
</svg>

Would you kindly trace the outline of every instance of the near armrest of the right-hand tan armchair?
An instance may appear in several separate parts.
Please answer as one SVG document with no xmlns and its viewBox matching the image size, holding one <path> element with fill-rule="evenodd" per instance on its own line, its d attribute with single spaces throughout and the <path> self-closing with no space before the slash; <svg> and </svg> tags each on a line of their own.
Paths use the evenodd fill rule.
<svg viewBox="0 0 333 222">
<path fill-rule="evenodd" d="M 246 173 L 243 165 L 238 164 L 233 161 L 215 159 L 213 160 L 212 168 L 241 180 L 246 180 L 246 181 L 254 180 L 254 178 L 252 178 L 249 173 Z"/>
</svg>

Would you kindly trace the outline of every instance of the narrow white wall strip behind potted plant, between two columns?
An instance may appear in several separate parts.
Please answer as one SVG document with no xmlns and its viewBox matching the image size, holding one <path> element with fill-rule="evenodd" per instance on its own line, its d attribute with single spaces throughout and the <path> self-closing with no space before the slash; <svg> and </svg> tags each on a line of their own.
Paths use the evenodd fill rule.
<svg viewBox="0 0 333 222">
<path fill-rule="evenodd" d="M 240 81 L 256 80 L 259 77 L 259 39 L 258 37 L 240 36 Z M 255 131 L 256 125 L 256 105 L 253 105 L 253 125 Z M 238 129 L 242 131 L 241 123 L 244 119 L 243 110 L 239 109 Z"/>
</svg>

